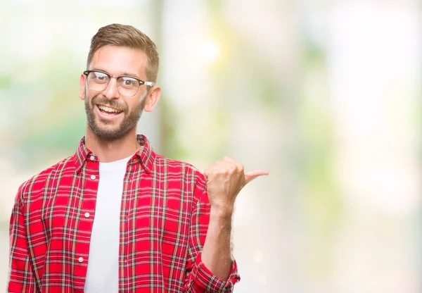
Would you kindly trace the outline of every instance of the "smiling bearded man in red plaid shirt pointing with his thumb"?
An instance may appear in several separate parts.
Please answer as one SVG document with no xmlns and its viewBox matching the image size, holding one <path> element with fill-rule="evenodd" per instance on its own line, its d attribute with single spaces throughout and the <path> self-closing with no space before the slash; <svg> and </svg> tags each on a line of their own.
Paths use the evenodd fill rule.
<svg viewBox="0 0 422 293">
<path fill-rule="evenodd" d="M 243 173 L 204 175 L 155 154 L 136 125 L 160 99 L 155 44 L 108 25 L 91 39 L 79 97 L 87 133 L 73 156 L 20 186 L 8 292 L 231 292 L 231 216 Z"/>
</svg>

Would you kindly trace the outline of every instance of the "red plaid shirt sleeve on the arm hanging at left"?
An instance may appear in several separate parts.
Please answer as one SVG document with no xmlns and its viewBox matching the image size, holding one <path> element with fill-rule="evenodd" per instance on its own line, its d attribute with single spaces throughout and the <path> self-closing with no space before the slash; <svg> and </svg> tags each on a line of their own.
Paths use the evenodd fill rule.
<svg viewBox="0 0 422 293">
<path fill-rule="evenodd" d="M 27 246 L 27 233 L 20 202 L 20 192 L 15 199 L 9 225 L 9 269 L 6 292 L 37 292 Z"/>
</svg>

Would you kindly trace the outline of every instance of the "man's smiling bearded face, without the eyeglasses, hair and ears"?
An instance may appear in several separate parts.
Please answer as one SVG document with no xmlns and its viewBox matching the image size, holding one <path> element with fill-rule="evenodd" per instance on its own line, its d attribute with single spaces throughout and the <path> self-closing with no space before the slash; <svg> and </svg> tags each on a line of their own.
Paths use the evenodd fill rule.
<svg viewBox="0 0 422 293">
<path fill-rule="evenodd" d="M 146 54 L 142 51 L 123 46 L 103 46 L 94 53 L 89 69 L 110 75 L 131 75 L 147 81 L 146 62 Z M 97 137 L 120 139 L 130 130 L 136 131 L 148 95 L 145 85 L 141 85 L 134 96 L 124 96 L 117 90 L 115 78 L 110 79 L 102 92 L 89 89 L 85 78 L 81 80 L 81 91 L 84 92 L 88 126 Z"/>
</svg>

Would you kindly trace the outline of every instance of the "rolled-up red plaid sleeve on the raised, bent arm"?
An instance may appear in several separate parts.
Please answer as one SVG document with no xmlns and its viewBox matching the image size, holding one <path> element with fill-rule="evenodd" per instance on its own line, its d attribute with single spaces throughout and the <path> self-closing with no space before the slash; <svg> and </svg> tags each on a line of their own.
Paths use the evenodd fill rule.
<svg viewBox="0 0 422 293">
<path fill-rule="evenodd" d="M 202 186 L 203 185 L 203 186 Z M 233 287 L 241 278 L 238 275 L 236 261 L 231 262 L 227 280 L 217 278 L 202 262 L 201 251 L 210 222 L 210 201 L 205 189 L 205 181 L 196 186 L 194 197 L 198 199 L 193 208 L 189 229 L 187 275 L 183 292 L 233 292 Z"/>
</svg>

